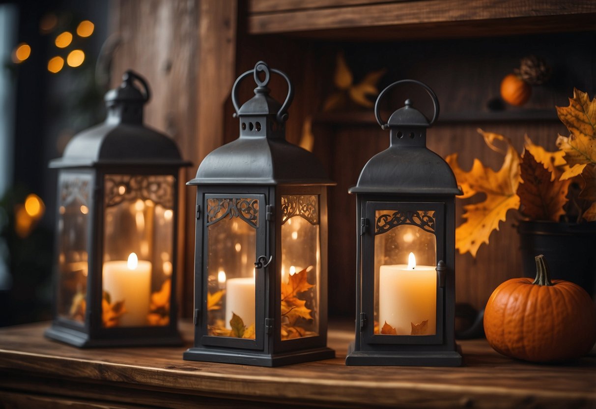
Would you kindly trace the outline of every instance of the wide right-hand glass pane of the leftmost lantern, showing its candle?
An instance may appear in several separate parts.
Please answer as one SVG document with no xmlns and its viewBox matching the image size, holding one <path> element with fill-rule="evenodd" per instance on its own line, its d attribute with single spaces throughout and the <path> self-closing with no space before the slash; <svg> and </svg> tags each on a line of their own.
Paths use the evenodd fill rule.
<svg viewBox="0 0 596 409">
<path fill-rule="evenodd" d="M 172 175 L 105 175 L 104 327 L 169 324 L 174 184 Z"/>
</svg>

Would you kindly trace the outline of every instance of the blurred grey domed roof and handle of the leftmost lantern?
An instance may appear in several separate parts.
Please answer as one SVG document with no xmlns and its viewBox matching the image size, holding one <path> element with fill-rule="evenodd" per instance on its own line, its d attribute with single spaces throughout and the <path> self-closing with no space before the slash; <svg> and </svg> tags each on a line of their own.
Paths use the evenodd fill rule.
<svg viewBox="0 0 596 409">
<path fill-rule="evenodd" d="M 143 86 L 142 91 L 135 86 L 135 80 Z M 63 157 L 49 163 L 50 168 L 188 165 L 171 138 L 143 124 L 143 107 L 150 95 L 144 78 L 128 70 L 122 85 L 105 94 L 105 122 L 76 134 L 66 145 Z"/>
</svg>

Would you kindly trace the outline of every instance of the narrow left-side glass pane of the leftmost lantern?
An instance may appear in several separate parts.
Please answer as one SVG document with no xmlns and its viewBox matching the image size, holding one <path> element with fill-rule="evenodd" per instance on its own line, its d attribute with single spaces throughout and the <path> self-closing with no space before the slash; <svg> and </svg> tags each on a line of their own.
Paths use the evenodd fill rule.
<svg viewBox="0 0 596 409">
<path fill-rule="evenodd" d="M 85 321 L 92 185 L 91 175 L 77 173 L 61 173 L 58 184 L 57 312 L 79 323 Z"/>
</svg>

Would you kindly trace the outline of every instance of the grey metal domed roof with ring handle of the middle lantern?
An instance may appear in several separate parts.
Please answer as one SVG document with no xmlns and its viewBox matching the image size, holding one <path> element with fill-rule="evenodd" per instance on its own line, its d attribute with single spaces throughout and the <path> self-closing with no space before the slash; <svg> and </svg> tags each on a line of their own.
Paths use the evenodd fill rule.
<svg viewBox="0 0 596 409">
<path fill-rule="evenodd" d="M 265 79 L 259 78 L 259 73 Z M 269 96 L 269 78 L 277 73 L 288 83 L 283 104 Z M 257 88 L 254 97 L 238 107 L 237 86 L 253 75 Z M 232 103 L 240 119 L 240 137 L 209 153 L 198 166 L 196 178 L 188 185 L 201 184 L 324 184 L 333 185 L 319 160 L 309 151 L 285 140 L 287 108 L 293 98 L 293 87 L 285 73 L 269 69 L 259 61 L 235 81 Z"/>
</svg>

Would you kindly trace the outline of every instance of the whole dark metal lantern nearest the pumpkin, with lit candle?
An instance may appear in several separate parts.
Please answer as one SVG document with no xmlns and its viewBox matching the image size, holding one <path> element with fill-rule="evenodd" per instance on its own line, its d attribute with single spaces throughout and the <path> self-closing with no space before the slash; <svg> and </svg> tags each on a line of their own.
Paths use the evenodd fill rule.
<svg viewBox="0 0 596 409">
<path fill-rule="evenodd" d="M 385 123 L 379 101 L 402 83 L 433 100 L 427 118 L 409 100 Z M 378 95 L 390 146 L 362 169 L 356 194 L 356 339 L 346 365 L 461 365 L 454 340 L 455 196 L 449 165 L 426 147 L 439 115 L 428 86 L 401 80 Z"/>
</svg>

